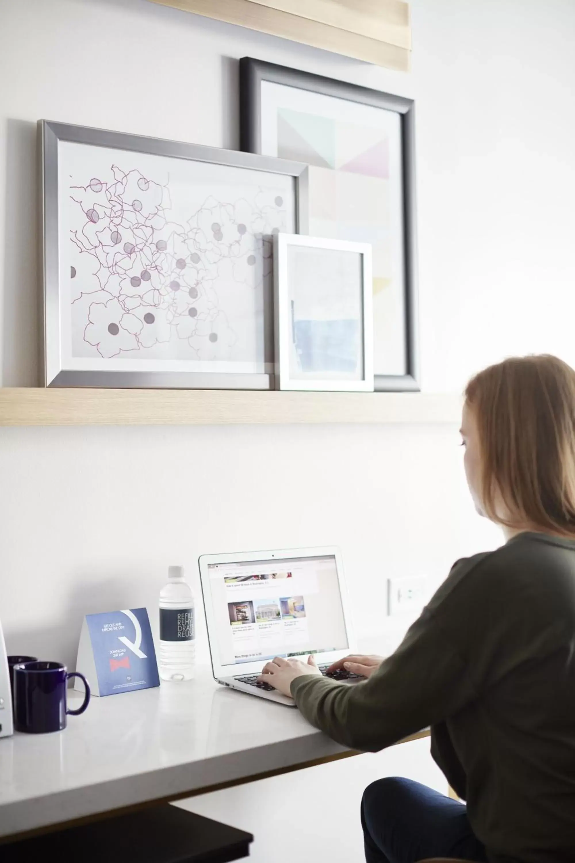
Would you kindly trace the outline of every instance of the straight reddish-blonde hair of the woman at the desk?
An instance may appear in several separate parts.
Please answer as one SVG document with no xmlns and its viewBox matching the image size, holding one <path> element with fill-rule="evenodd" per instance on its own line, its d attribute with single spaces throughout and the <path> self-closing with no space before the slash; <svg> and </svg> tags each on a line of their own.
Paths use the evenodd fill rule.
<svg viewBox="0 0 575 863">
<path fill-rule="evenodd" d="M 556 356 L 490 366 L 466 387 L 478 425 L 485 514 L 497 494 L 509 513 L 542 532 L 575 537 L 575 371 Z"/>
</svg>

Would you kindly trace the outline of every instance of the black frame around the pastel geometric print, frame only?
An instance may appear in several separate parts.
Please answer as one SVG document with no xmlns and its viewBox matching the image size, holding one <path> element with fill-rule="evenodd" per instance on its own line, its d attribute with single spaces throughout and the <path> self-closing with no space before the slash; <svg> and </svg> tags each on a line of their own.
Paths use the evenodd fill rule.
<svg viewBox="0 0 575 863">
<path fill-rule="evenodd" d="M 261 154 L 261 84 L 297 87 L 325 96 L 347 99 L 397 111 L 401 121 L 403 162 L 403 268 L 405 292 L 405 375 L 375 375 L 378 392 L 419 392 L 420 356 L 417 287 L 415 103 L 346 81 L 324 78 L 299 69 L 277 66 L 253 57 L 240 60 L 240 148 Z"/>
</svg>

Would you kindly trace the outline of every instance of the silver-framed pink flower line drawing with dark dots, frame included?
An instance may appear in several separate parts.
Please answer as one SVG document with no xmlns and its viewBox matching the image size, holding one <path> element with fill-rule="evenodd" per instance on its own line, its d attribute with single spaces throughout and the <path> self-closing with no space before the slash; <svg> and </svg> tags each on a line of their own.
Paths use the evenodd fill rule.
<svg viewBox="0 0 575 863">
<path fill-rule="evenodd" d="M 273 388 L 304 165 L 41 121 L 49 387 Z"/>
</svg>

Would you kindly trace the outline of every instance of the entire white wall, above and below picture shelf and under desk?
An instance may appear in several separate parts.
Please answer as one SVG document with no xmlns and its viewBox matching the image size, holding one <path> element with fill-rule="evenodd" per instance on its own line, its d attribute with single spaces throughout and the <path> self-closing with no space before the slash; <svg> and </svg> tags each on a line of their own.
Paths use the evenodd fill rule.
<svg viewBox="0 0 575 863">
<path fill-rule="evenodd" d="M 0 0 L 3 386 L 37 383 L 35 121 L 234 148 L 244 55 L 416 98 L 425 389 L 458 391 L 511 353 L 549 350 L 575 364 L 575 4 L 411 6 L 408 75 L 145 0 Z M 169 563 L 186 564 L 195 579 L 202 551 L 333 541 L 360 636 L 366 646 L 391 644 L 386 576 L 423 571 L 437 583 L 455 557 L 497 543 L 467 501 L 456 431 L 0 429 L 9 650 L 72 664 L 82 614 L 153 608 Z M 258 827 L 256 860 L 291 860 L 293 849 L 277 844 L 284 810 L 268 827 L 249 814 L 305 788 L 306 803 L 321 798 L 326 815 L 328 801 L 350 820 L 347 828 L 338 817 L 332 845 L 325 820 L 310 829 L 316 845 L 299 847 L 300 859 L 359 860 L 359 787 L 390 771 L 439 784 L 424 746 L 191 805 Z"/>
</svg>

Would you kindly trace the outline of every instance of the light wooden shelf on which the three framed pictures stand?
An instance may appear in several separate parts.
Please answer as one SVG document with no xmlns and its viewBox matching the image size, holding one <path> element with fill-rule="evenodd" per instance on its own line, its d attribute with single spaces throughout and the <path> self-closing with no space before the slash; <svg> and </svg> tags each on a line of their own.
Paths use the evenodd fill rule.
<svg viewBox="0 0 575 863">
<path fill-rule="evenodd" d="M 0 425 L 459 423 L 456 395 L 0 388 Z"/>
</svg>

